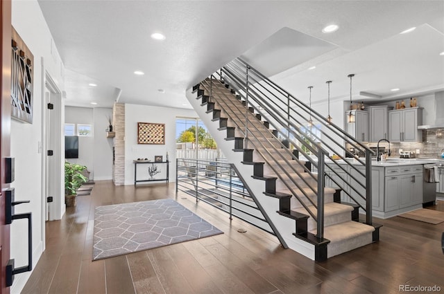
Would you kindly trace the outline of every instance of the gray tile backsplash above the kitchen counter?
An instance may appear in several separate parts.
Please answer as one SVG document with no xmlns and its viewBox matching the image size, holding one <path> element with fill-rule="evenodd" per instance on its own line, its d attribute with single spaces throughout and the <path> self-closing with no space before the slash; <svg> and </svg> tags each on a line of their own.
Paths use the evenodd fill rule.
<svg viewBox="0 0 444 294">
<path fill-rule="evenodd" d="M 377 143 L 369 143 L 368 147 L 376 147 Z M 386 147 L 387 143 L 381 143 L 380 146 Z M 387 147 L 386 147 L 387 148 Z M 441 156 L 441 150 L 444 149 L 444 129 L 422 130 L 422 142 L 415 143 L 391 143 L 391 157 L 399 157 L 399 149 L 402 151 L 420 150 L 416 154 L 417 158 L 437 158 Z"/>
</svg>

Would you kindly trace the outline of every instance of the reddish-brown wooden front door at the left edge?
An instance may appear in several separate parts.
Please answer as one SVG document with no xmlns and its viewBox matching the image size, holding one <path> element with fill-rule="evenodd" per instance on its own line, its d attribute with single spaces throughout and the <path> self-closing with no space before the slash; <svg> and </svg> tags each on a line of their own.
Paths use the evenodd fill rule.
<svg viewBox="0 0 444 294">
<path fill-rule="evenodd" d="M 1 65 L 1 101 L 0 101 L 0 192 L 9 187 L 5 181 L 5 160 L 10 156 L 10 73 L 11 73 L 11 1 L 1 0 L 0 7 L 0 65 Z M 1 293 L 9 293 L 6 286 L 6 264 L 10 259 L 9 225 L 5 225 L 5 197 L 0 194 L 0 264 Z"/>
</svg>

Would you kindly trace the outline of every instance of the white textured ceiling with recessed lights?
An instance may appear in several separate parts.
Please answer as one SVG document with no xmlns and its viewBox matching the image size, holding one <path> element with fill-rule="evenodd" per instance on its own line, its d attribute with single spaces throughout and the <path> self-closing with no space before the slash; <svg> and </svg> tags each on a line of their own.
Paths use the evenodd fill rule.
<svg viewBox="0 0 444 294">
<path fill-rule="evenodd" d="M 332 100 L 348 100 L 349 73 L 354 100 L 444 89 L 444 1 L 38 2 L 65 64 L 67 105 L 191 108 L 185 91 L 238 56 L 301 100 L 314 86 L 315 104 L 327 80 Z M 322 33 L 328 24 L 339 30 Z"/>
</svg>

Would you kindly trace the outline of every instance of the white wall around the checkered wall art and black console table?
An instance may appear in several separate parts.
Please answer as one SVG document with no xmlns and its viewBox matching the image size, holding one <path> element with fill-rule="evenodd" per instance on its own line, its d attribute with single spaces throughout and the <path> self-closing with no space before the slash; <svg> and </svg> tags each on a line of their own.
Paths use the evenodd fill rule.
<svg viewBox="0 0 444 294">
<path fill-rule="evenodd" d="M 148 158 L 154 161 L 154 156 L 165 156 L 169 153 L 169 178 L 176 181 L 176 117 L 186 116 L 196 118 L 194 110 L 176 109 L 169 107 L 148 107 L 143 105 L 125 104 L 125 185 L 134 184 L 134 164 L 137 158 Z M 154 122 L 165 124 L 165 145 L 139 145 L 137 144 L 137 122 Z M 164 178 L 165 165 L 158 165 L 162 172 L 157 178 Z M 139 165 L 137 178 L 148 178 L 148 173 L 142 174 L 142 169 L 148 165 Z M 162 182 L 153 182 L 162 183 Z"/>
</svg>

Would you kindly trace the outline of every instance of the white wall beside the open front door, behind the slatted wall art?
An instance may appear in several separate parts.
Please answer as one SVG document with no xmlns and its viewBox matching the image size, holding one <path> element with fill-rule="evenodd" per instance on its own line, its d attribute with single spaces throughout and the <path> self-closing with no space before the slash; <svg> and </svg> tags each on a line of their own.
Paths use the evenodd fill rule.
<svg viewBox="0 0 444 294">
<path fill-rule="evenodd" d="M 51 55 L 51 33 L 36 0 L 12 1 L 12 26 L 34 55 L 33 68 L 33 124 L 12 120 L 11 156 L 15 158 L 15 199 L 30 200 L 30 204 L 18 205 L 16 213 L 32 212 L 33 219 L 33 267 L 42 254 L 42 60 L 44 69 L 63 90 L 62 72 L 64 66 L 53 47 Z M 16 266 L 27 262 L 26 221 L 14 221 L 11 225 L 10 256 Z M 31 273 L 15 276 L 11 293 L 20 293 Z"/>
</svg>

